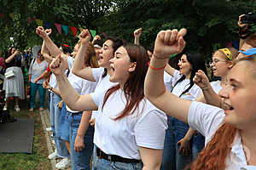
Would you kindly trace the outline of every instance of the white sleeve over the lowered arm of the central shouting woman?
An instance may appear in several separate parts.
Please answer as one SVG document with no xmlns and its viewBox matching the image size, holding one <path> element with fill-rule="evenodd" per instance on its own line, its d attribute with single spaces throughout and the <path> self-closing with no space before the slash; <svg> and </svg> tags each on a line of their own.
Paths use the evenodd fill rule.
<svg viewBox="0 0 256 170">
<path fill-rule="evenodd" d="M 142 116 L 135 125 L 135 139 L 137 146 L 162 150 L 164 148 L 167 128 L 166 114 L 158 111 L 149 111 Z"/>
</svg>

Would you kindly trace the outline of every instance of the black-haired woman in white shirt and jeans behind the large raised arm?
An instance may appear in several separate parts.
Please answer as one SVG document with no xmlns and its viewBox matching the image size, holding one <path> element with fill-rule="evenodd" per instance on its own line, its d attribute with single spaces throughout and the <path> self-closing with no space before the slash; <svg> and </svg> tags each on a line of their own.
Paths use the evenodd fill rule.
<svg viewBox="0 0 256 170">
<path fill-rule="evenodd" d="M 201 54 L 193 51 L 187 51 L 182 54 L 178 64 L 179 71 L 166 66 L 167 71 L 173 77 L 172 94 L 182 99 L 195 100 L 201 94 L 201 88 L 193 82 L 196 71 L 202 70 L 207 74 L 206 63 Z M 165 74 L 164 74 L 165 75 Z M 189 130 L 187 123 L 177 120 L 170 116 L 168 120 L 168 129 L 166 131 L 165 148 L 163 151 L 162 169 L 183 169 L 191 161 L 194 152 L 200 152 L 202 144 L 194 139 L 183 140 Z M 198 146 L 198 144 L 202 146 Z M 194 147 L 194 152 L 192 152 Z M 172 167 L 170 166 L 172 164 Z"/>
</svg>

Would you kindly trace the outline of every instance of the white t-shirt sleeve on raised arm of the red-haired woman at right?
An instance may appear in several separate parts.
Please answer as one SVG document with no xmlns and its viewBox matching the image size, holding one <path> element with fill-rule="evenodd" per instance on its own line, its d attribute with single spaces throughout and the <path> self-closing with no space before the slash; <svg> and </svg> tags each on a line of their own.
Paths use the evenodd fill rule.
<svg viewBox="0 0 256 170">
<path fill-rule="evenodd" d="M 192 102 L 189 108 L 189 127 L 204 136 L 212 136 L 224 120 L 224 110 L 201 102 Z"/>
</svg>

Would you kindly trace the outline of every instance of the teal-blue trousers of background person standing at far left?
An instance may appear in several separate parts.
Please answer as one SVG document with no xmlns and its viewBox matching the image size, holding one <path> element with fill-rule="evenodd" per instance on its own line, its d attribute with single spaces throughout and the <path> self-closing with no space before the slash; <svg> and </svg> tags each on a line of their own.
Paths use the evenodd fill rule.
<svg viewBox="0 0 256 170">
<path fill-rule="evenodd" d="M 40 96 L 40 107 L 44 108 L 44 99 L 45 99 L 45 94 L 46 90 L 43 88 L 42 84 L 34 83 L 31 82 L 31 94 L 30 94 L 30 107 L 34 108 L 35 107 L 35 99 L 37 95 L 37 91 L 39 91 L 39 96 Z"/>
</svg>

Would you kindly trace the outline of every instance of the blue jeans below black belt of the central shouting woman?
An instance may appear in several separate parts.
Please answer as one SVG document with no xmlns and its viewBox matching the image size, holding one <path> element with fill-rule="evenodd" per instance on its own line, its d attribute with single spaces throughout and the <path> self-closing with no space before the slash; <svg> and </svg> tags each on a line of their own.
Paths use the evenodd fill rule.
<svg viewBox="0 0 256 170">
<path fill-rule="evenodd" d="M 95 170 L 141 170 L 143 169 L 143 162 L 123 163 L 119 161 L 97 159 L 95 167 Z"/>
</svg>

